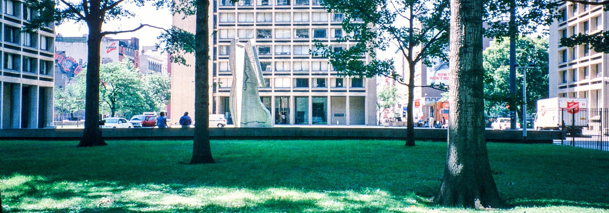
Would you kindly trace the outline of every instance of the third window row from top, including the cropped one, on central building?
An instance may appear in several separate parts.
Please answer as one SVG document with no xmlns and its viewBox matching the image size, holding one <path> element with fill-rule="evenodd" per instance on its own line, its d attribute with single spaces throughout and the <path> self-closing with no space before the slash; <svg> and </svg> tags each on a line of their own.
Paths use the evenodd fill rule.
<svg viewBox="0 0 609 213">
<path fill-rule="evenodd" d="M 343 38 L 345 37 L 345 30 L 341 28 L 334 28 L 329 30 L 331 32 L 331 38 Z M 237 34 L 235 34 L 237 32 Z M 312 33 L 311 33 L 312 32 Z M 273 37 L 273 29 L 220 29 L 218 30 L 218 37 L 220 39 L 248 39 L 248 38 L 259 38 L 259 39 L 289 39 L 289 38 L 328 38 L 328 29 L 275 29 L 275 36 Z"/>
</svg>

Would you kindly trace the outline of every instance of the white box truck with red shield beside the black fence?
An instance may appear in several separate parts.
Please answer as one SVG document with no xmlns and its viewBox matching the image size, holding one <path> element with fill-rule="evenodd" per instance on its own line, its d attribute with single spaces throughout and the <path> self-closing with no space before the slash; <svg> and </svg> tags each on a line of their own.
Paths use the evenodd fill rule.
<svg viewBox="0 0 609 213">
<path fill-rule="evenodd" d="M 537 101 L 535 130 L 573 128 L 581 133 L 588 127 L 588 99 L 552 97 Z"/>
</svg>

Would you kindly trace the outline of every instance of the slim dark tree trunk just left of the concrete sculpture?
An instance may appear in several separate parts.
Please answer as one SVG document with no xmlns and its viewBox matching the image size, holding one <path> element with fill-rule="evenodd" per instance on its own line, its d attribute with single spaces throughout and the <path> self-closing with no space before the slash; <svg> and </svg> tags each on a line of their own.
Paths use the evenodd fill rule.
<svg viewBox="0 0 609 213">
<path fill-rule="evenodd" d="M 197 0 L 194 66 L 194 127 L 191 164 L 214 163 L 209 146 L 209 0 Z"/>
</svg>

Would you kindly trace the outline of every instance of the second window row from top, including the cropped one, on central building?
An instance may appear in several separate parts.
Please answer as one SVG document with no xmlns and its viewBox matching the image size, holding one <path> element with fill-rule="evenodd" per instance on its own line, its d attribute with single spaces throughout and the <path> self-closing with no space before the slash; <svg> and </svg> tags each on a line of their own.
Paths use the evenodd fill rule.
<svg viewBox="0 0 609 213">
<path fill-rule="evenodd" d="M 294 22 L 326 22 L 328 21 L 327 12 L 311 12 L 309 18 L 309 12 L 294 12 Z M 238 23 L 253 23 L 254 22 L 254 13 L 218 13 L 220 23 L 234 23 L 237 21 Z M 345 19 L 345 15 L 342 13 L 332 13 L 331 15 L 332 21 L 343 21 Z M 292 13 L 285 12 L 276 12 L 275 13 L 275 22 L 291 22 L 292 21 Z M 258 23 L 268 23 L 273 22 L 273 13 L 256 13 L 256 22 Z"/>
</svg>

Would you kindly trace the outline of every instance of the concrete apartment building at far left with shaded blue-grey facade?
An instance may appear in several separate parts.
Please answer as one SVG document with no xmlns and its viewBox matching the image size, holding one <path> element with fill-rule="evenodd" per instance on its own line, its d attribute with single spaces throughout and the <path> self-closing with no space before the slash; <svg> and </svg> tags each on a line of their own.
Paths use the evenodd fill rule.
<svg viewBox="0 0 609 213">
<path fill-rule="evenodd" d="M 21 1 L 3 0 L 0 23 L 0 128 L 52 126 L 54 27 L 23 32 L 32 8 Z"/>
</svg>

